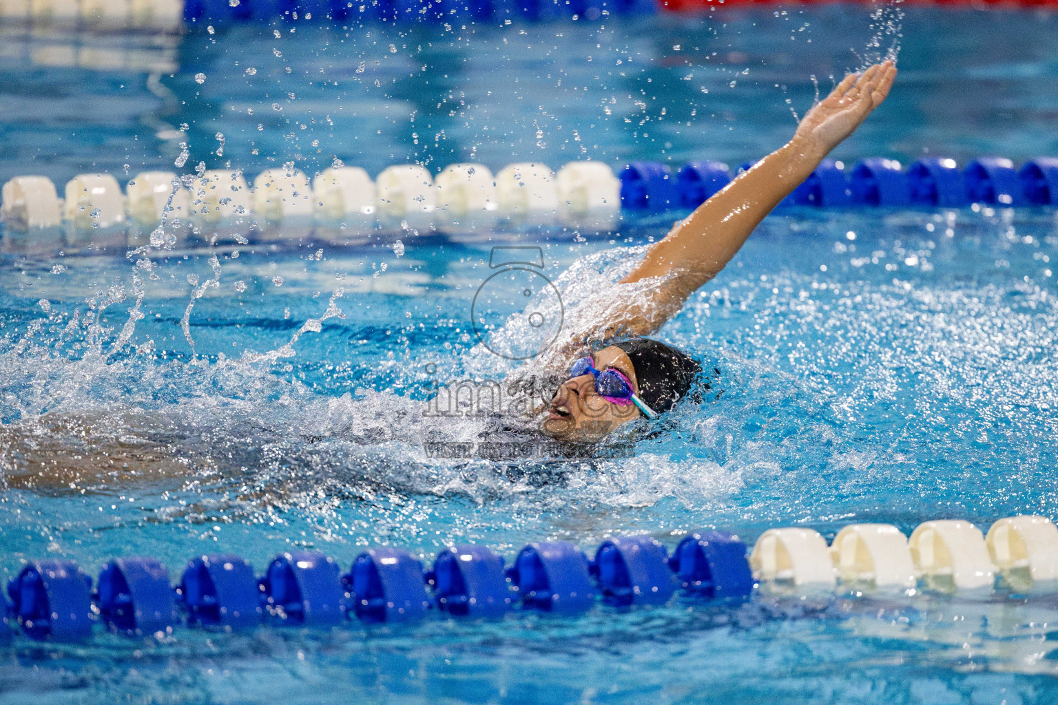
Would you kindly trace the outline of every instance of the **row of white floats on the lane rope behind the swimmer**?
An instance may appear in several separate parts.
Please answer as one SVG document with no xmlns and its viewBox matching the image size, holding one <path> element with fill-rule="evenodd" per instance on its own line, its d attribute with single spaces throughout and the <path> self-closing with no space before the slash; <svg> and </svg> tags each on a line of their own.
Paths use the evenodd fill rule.
<svg viewBox="0 0 1058 705">
<path fill-rule="evenodd" d="M 174 179 L 181 183 L 176 193 Z M 436 180 L 424 167 L 406 164 L 384 169 L 377 181 L 364 169 L 340 166 L 311 183 L 300 171 L 269 169 L 254 180 L 253 189 L 236 170 L 182 177 L 147 171 L 129 181 L 127 202 L 108 174 L 76 177 L 68 189 L 73 198 L 63 209 L 44 177 L 7 182 L 0 204 L 6 230 L 39 231 L 59 218 L 74 234 L 69 244 L 110 244 L 113 238 L 104 242 L 102 234 L 129 221 L 129 243 L 142 244 L 143 236 L 152 231 L 146 229 L 151 220 L 161 221 L 170 194 L 168 218 L 194 227 L 206 242 L 249 241 L 255 230 L 263 240 L 315 231 L 334 242 L 350 242 L 380 224 L 391 229 L 398 223 L 420 230 L 488 235 L 499 217 L 539 225 L 559 219 L 570 227 L 606 230 L 620 217 L 620 181 L 600 162 L 570 163 L 558 174 L 544 164 L 512 164 L 496 175 L 480 164 L 453 164 Z M 85 237 L 93 233 L 99 237 Z"/>
</svg>

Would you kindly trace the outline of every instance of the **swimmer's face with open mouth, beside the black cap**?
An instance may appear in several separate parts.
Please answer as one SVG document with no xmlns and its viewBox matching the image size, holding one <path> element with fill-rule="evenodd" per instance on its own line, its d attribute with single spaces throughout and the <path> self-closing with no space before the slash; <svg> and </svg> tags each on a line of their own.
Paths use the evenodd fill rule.
<svg viewBox="0 0 1058 705">
<path fill-rule="evenodd" d="M 591 357 L 596 369 L 617 370 L 632 382 L 638 393 L 636 371 L 623 350 L 610 346 L 594 352 Z M 595 377 L 590 374 L 564 382 L 551 400 L 548 411 L 541 431 L 560 441 L 598 441 L 621 424 L 640 416 L 635 404 L 621 406 L 600 396 L 595 389 Z"/>
</svg>

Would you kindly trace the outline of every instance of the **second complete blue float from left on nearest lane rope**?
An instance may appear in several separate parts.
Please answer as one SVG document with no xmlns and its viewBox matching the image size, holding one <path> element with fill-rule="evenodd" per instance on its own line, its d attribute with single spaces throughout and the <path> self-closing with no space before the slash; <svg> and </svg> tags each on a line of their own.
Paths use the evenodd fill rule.
<svg viewBox="0 0 1058 705">
<path fill-rule="evenodd" d="M 99 573 L 96 605 L 113 631 L 129 636 L 166 632 L 177 623 L 169 571 L 153 558 L 116 558 Z"/>
</svg>

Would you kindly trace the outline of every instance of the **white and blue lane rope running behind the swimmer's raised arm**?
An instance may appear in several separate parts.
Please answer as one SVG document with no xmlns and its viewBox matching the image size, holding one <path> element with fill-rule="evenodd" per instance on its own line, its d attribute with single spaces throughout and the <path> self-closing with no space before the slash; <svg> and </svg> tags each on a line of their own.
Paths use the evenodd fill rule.
<svg viewBox="0 0 1058 705">
<path fill-rule="evenodd" d="M 111 174 L 84 173 L 71 179 L 60 197 L 50 179 L 24 175 L 3 185 L 0 220 L 8 234 L 23 234 L 31 245 L 57 237 L 71 246 L 161 244 L 153 240 L 162 237 L 282 240 L 313 233 L 341 239 L 397 223 L 405 229 L 487 230 L 500 219 L 605 230 L 617 226 L 620 210 L 691 210 L 731 179 L 730 168 L 713 161 L 675 170 L 660 162 L 633 162 L 619 174 L 601 162 L 570 162 L 558 171 L 526 162 L 495 174 L 485 165 L 461 163 L 436 175 L 403 164 L 375 180 L 359 167 L 331 167 L 312 179 L 295 169 L 268 169 L 252 186 L 238 170 L 145 171 L 124 190 Z M 847 171 L 843 163 L 825 160 L 779 208 L 971 204 L 1058 205 L 1058 159 L 1038 157 L 1019 169 L 1008 159 L 980 157 L 960 169 L 954 160 L 928 157 L 904 169 L 895 160 L 870 157 Z"/>
</svg>

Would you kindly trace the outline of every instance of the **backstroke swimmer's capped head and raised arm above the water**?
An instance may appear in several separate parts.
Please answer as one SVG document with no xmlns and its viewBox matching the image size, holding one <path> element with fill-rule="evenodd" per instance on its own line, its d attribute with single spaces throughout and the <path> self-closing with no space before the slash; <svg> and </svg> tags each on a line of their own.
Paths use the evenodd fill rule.
<svg viewBox="0 0 1058 705">
<path fill-rule="evenodd" d="M 658 418 L 691 392 L 698 364 L 643 336 L 679 313 L 688 297 L 731 261 L 764 217 L 881 105 L 894 78 L 892 61 L 845 76 L 805 114 L 792 140 L 650 246 L 621 283 L 655 280 L 653 296 L 610 307 L 600 333 L 582 334 L 563 351 L 572 363 L 542 423 L 546 435 L 598 441 L 622 424 Z"/>
</svg>

